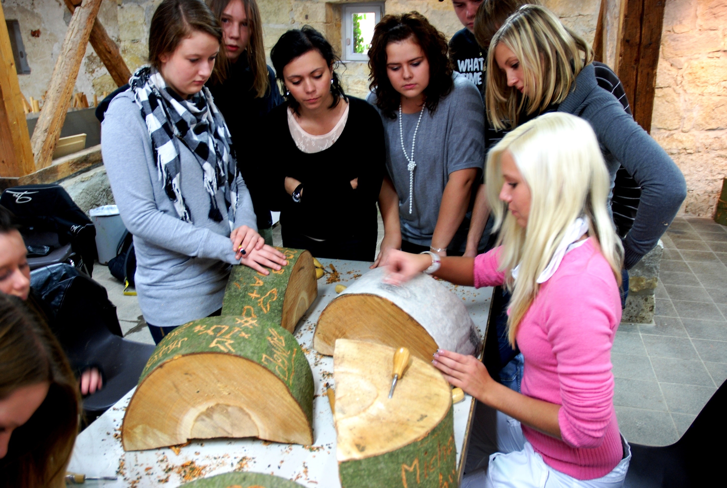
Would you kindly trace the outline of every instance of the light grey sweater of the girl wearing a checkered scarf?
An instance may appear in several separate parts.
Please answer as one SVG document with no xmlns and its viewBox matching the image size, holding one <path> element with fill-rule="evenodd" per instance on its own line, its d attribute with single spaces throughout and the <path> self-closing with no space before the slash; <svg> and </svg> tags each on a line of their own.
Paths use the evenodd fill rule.
<svg viewBox="0 0 727 488">
<path fill-rule="evenodd" d="M 222 191 L 222 221 L 208 217 L 209 194 L 195 156 L 179 141 L 182 195 L 192 223 L 177 217 L 158 176 L 151 140 L 130 91 L 117 95 L 101 126 L 101 151 L 124 225 L 134 235 L 139 305 L 148 324 L 171 327 L 201 319 L 222 307 L 222 295 L 236 264 Z M 235 227 L 257 229 L 252 200 L 238 177 Z"/>
</svg>

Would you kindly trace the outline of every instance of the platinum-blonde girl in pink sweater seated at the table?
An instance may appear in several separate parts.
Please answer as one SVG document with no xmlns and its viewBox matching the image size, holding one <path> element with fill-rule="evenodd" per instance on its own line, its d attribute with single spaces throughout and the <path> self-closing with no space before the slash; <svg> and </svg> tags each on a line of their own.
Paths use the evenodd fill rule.
<svg viewBox="0 0 727 488">
<path fill-rule="evenodd" d="M 630 450 L 614 411 L 611 345 L 623 250 L 593 129 L 565 113 L 523 124 L 490 151 L 486 180 L 499 247 L 474 259 L 393 252 L 386 263 L 393 284 L 425 271 L 475 287 L 505 284 L 513 294 L 507 327 L 525 358 L 522 393 L 492 380 L 473 356 L 440 350 L 432 361 L 497 410 L 495 431 L 478 436 L 497 452 L 463 486 L 620 487 Z"/>
</svg>

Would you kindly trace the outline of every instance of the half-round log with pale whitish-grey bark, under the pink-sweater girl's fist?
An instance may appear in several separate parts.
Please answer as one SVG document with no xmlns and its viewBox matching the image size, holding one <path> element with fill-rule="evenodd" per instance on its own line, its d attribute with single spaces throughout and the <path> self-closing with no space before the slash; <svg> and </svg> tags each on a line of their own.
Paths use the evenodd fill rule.
<svg viewBox="0 0 727 488">
<path fill-rule="evenodd" d="M 477 354 L 481 337 L 462 300 L 421 273 L 400 287 L 383 282 L 376 268 L 326 306 L 316 324 L 313 348 L 331 356 L 337 339 L 369 340 L 430 361 L 438 348 Z"/>
</svg>

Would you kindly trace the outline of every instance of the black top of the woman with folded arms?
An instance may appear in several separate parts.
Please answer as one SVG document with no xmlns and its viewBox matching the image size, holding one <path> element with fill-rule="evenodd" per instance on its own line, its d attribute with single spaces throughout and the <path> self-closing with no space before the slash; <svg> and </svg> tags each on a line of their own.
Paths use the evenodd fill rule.
<svg viewBox="0 0 727 488">
<path fill-rule="evenodd" d="M 366 101 L 348 97 L 348 102 L 343 132 L 330 148 L 318 153 L 304 153 L 295 145 L 287 103 L 273 108 L 265 119 L 260 147 L 274 148 L 277 166 L 270 179 L 270 208 L 281 211 L 286 233 L 335 240 L 377 233 L 376 202 L 386 161 L 384 128 L 379 113 Z M 294 203 L 285 191 L 287 176 L 304 185 L 300 203 Z M 350 180 L 356 177 L 354 190 Z"/>
</svg>

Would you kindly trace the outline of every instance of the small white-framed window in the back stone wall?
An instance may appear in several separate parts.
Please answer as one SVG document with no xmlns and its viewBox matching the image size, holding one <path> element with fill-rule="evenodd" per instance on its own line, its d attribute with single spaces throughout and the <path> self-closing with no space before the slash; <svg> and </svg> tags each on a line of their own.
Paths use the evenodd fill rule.
<svg viewBox="0 0 727 488">
<path fill-rule="evenodd" d="M 353 4 L 342 6 L 341 40 L 343 60 L 368 61 L 374 25 L 379 23 L 384 4 Z"/>
</svg>

